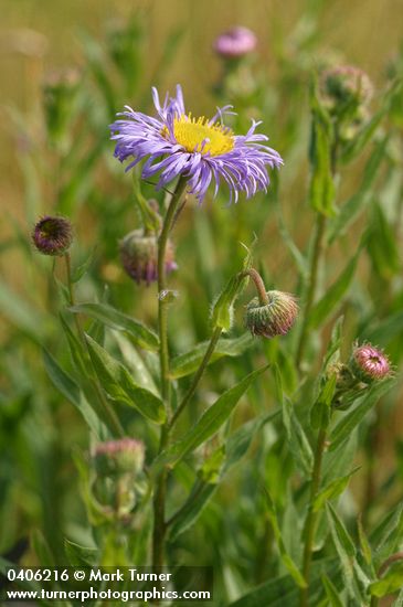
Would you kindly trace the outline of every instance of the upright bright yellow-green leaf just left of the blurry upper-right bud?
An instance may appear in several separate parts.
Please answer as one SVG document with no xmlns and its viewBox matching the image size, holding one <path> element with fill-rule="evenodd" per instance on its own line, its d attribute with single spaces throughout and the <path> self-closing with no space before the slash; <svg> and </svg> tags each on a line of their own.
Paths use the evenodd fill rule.
<svg viewBox="0 0 403 607">
<path fill-rule="evenodd" d="M 310 94 L 312 127 L 309 149 L 311 175 L 309 203 L 318 213 L 332 216 L 335 210 L 335 183 L 331 170 L 332 125 L 321 107 L 316 83 Z"/>
</svg>

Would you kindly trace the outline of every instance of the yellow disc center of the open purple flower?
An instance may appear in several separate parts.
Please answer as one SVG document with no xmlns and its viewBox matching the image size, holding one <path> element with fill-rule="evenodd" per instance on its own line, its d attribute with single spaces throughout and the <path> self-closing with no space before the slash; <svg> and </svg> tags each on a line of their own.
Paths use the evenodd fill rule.
<svg viewBox="0 0 403 607">
<path fill-rule="evenodd" d="M 191 114 L 174 118 L 173 135 L 178 143 L 189 152 L 220 156 L 231 151 L 235 145 L 234 134 L 230 128 L 220 124 L 209 125 L 204 116 L 192 118 Z"/>
</svg>

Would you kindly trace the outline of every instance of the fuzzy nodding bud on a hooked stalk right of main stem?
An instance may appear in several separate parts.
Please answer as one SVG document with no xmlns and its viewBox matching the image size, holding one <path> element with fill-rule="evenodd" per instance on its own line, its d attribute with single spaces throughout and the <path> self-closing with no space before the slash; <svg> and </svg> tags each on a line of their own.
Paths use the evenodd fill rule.
<svg viewBox="0 0 403 607">
<path fill-rule="evenodd" d="M 262 303 L 255 297 L 246 306 L 245 326 L 253 336 L 274 338 L 285 336 L 293 327 L 297 315 L 298 305 L 293 295 L 282 291 L 267 291 L 268 302 Z"/>
</svg>

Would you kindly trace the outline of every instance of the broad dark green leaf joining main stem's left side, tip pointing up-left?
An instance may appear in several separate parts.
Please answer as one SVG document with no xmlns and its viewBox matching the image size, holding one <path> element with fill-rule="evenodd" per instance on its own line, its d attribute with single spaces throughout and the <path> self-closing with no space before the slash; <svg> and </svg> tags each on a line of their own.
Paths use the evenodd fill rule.
<svg viewBox="0 0 403 607">
<path fill-rule="evenodd" d="M 163 424 L 166 412 L 162 401 L 149 390 L 138 386 L 127 368 L 110 356 L 89 336 L 86 340 L 98 380 L 110 398 L 135 407 L 156 424 Z"/>
</svg>

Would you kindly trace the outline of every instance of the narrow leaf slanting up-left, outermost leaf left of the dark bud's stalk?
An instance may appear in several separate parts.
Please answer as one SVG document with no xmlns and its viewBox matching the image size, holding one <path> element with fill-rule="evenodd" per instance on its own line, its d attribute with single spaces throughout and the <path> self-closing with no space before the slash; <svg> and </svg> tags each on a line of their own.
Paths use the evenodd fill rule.
<svg viewBox="0 0 403 607">
<path fill-rule="evenodd" d="M 95 436 L 102 439 L 102 437 L 106 435 L 106 428 L 95 411 L 88 405 L 77 384 L 65 371 L 63 371 L 52 354 L 46 350 L 43 350 L 43 361 L 47 375 L 52 380 L 54 386 L 65 398 L 67 398 L 67 401 L 77 407 Z"/>
</svg>

